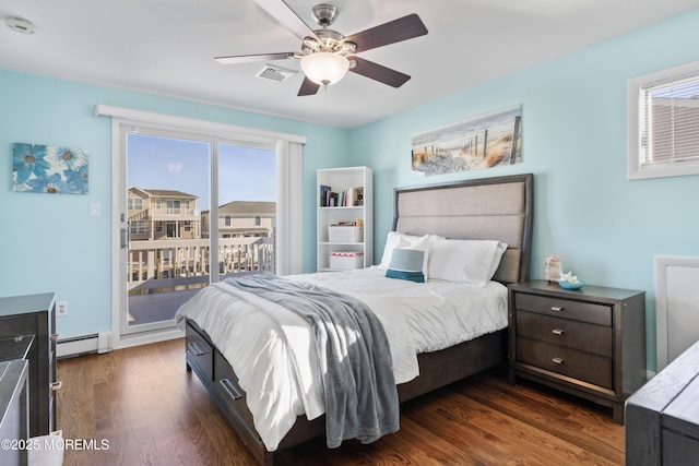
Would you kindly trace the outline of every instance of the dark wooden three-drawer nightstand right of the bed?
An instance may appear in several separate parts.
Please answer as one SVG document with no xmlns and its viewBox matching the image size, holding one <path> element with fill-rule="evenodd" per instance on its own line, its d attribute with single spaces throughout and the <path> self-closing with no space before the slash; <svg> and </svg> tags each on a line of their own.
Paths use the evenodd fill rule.
<svg viewBox="0 0 699 466">
<path fill-rule="evenodd" d="M 509 287 L 510 383 L 518 377 L 614 409 L 645 383 L 645 292 L 533 280 Z"/>
</svg>

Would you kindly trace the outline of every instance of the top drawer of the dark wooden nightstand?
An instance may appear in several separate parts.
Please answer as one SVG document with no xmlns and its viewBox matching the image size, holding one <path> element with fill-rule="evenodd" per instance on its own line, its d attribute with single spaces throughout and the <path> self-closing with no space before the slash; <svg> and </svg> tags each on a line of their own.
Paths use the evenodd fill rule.
<svg viewBox="0 0 699 466">
<path fill-rule="evenodd" d="M 517 294 L 514 307 L 518 310 L 612 326 L 612 309 L 608 306 L 550 296 Z"/>
</svg>

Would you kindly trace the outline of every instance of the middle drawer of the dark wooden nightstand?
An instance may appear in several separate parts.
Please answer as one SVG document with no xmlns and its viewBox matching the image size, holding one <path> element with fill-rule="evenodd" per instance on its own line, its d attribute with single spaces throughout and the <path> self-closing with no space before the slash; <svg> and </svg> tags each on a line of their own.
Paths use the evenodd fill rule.
<svg viewBox="0 0 699 466">
<path fill-rule="evenodd" d="M 517 335 L 612 357 L 612 327 L 518 311 Z"/>
</svg>

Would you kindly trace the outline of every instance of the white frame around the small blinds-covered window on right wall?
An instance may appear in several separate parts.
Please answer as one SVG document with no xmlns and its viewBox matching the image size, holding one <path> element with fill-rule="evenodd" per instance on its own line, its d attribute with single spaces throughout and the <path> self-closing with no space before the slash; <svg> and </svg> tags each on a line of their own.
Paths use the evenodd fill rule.
<svg viewBox="0 0 699 466">
<path fill-rule="evenodd" d="M 699 81 L 699 61 L 644 74 L 628 81 L 627 176 L 629 180 L 699 175 L 699 160 L 683 160 L 675 164 L 643 164 L 641 162 L 643 156 L 641 141 L 645 118 L 642 93 L 649 87 L 686 79 Z"/>
</svg>

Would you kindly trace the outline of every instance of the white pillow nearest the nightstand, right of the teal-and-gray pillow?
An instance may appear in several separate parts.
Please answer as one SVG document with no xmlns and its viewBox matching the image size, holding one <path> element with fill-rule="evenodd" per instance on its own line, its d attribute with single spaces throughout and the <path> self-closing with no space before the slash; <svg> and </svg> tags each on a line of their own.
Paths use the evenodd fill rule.
<svg viewBox="0 0 699 466">
<path fill-rule="evenodd" d="M 495 240 L 438 239 L 429 252 L 430 279 L 485 286 L 500 265 L 507 244 Z"/>
</svg>

